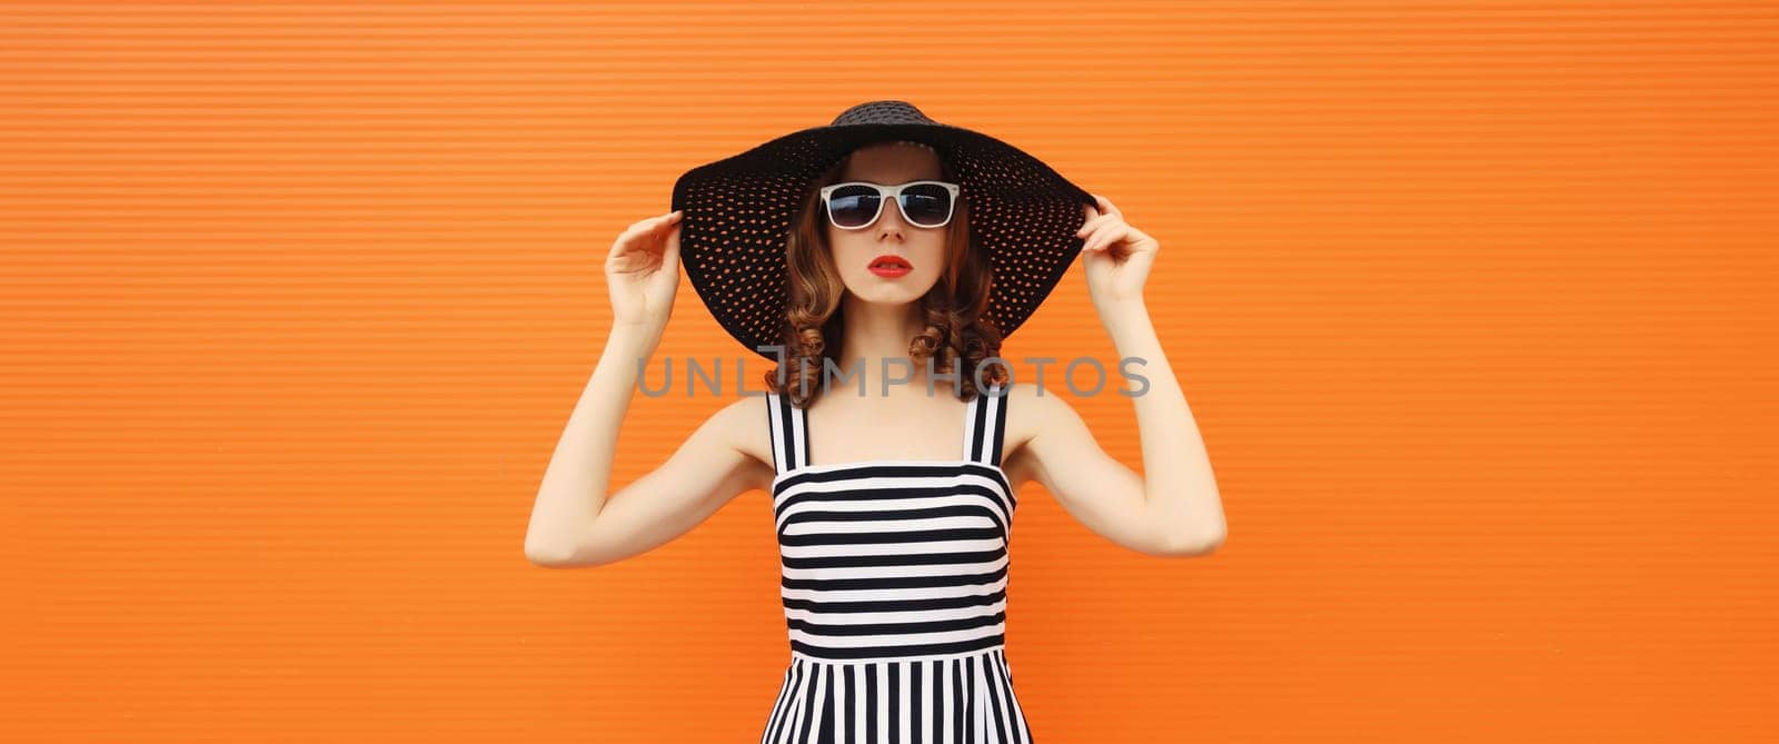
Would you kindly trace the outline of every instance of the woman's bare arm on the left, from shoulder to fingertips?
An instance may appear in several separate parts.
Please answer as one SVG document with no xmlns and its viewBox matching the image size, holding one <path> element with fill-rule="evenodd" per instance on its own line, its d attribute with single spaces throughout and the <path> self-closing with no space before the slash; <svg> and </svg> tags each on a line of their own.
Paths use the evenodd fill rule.
<svg viewBox="0 0 1779 744">
<path fill-rule="evenodd" d="M 742 399 L 704 420 L 660 468 L 607 497 L 639 360 L 655 354 L 672 313 L 678 222 L 678 212 L 639 221 L 607 256 L 612 333 L 537 489 L 525 532 L 525 557 L 534 564 L 598 566 L 667 543 L 758 486 L 769 470 L 744 445 L 745 427 L 765 409 Z M 760 416 L 747 415 L 754 408 Z"/>
</svg>

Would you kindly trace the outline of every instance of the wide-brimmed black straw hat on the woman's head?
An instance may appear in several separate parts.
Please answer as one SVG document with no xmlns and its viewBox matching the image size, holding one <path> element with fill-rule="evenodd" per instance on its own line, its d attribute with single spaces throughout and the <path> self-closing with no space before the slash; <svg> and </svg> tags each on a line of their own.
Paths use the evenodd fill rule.
<svg viewBox="0 0 1779 744">
<path fill-rule="evenodd" d="M 970 242 L 994 274 L 986 317 L 1012 335 L 1082 251 L 1075 231 L 1092 194 L 1012 144 L 929 119 L 907 101 L 868 101 L 806 128 L 694 167 L 672 187 L 685 210 L 680 263 L 717 322 L 747 349 L 785 344 L 785 237 L 813 182 L 879 141 L 932 146 L 970 201 Z"/>
</svg>

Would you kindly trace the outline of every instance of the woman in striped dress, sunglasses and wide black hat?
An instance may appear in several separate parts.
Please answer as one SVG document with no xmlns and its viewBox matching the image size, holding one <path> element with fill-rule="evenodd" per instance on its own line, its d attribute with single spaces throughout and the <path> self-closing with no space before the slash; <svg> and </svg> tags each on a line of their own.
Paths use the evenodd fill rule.
<svg viewBox="0 0 1779 744">
<path fill-rule="evenodd" d="M 1041 482 L 1151 555 L 1208 554 L 1224 536 L 1142 304 L 1160 246 L 1030 155 L 902 101 L 690 171 L 680 205 L 612 246 L 614 328 L 544 473 L 527 555 L 619 561 L 767 491 L 792 660 L 763 742 L 1030 742 L 1005 653 L 1018 488 Z M 694 246 L 688 214 L 694 287 L 737 340 L 772 358 L 761 347 L 781 345 L 783 363 L 765 395 L 719 409 L 603 498 L 639 360 L 672 308 L 681 233 Z M 1076 255 L 1119 356 L 1142 360 L 1146 475 L 998 361 Z"/>
</svg>

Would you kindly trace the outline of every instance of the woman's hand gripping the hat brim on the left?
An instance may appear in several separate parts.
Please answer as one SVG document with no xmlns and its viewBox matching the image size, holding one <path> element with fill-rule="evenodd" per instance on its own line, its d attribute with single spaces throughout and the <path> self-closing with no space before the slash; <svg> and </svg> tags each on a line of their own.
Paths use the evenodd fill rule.
<svg viewBox="0 0 1779 744">
<path fill-rule="evenodd" d="M 681 210 L 633 222 L 605 256 L 605 285 L 612 294 L 612 324 L 658 336 L 672 315 L 680 290 Z"/>
</svg>

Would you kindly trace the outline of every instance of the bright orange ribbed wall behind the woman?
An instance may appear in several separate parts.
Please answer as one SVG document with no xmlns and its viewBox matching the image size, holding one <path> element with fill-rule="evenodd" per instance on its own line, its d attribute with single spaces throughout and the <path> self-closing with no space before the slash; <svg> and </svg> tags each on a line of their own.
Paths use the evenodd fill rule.
<svg viewBox="0 0 1779 744">
<path fill-rule="evenodd" d="M 1770 740 L 1775 43 L 1770 2 L 7 4 L 0 739 L 758 740 L 763 493 L 596 570 L 525 523 L 612 239 L 900 98 L 1160 239 L 1228 509 L 1156 559 L 1019 493 L 1039 742 Z M 656 360 L 738 352 L 681 281 Z M 1114 356 L 1080 265 L 1007 352 Z M 728 400 L 639 393 L 614 482 Z M 1140 470 L 1130 400 L 1073 402 Z"/>
</svg>

